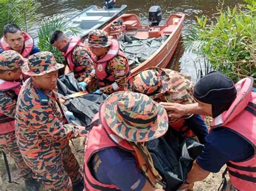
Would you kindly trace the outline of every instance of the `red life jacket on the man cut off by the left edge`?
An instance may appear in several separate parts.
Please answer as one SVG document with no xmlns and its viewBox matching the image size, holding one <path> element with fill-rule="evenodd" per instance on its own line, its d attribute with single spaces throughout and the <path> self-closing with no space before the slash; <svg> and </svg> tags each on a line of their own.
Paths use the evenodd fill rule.
<svg viewBox="0 0 256 191">
<path fill-rule="evenodd" d="M 19 82 L 8 82 L 0 80 L 0 91 L 14 90 L 16 99 L 19 91 L 21 90 L 21 83 Z M 9 133 L 15 130 L 15 118 L 8 117 L 0 113 L 0 135 Z"/>
</svg>

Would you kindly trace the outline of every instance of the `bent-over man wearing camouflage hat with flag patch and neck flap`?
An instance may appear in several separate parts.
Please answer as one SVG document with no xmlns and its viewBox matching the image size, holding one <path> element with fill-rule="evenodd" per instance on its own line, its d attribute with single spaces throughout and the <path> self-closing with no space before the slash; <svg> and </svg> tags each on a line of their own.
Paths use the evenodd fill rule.
<svg viewBox="0 0 256 191">
<path fill-rule="evenodd" d="M 196 103 L 192 97 L 193 83 L 190 76 L 171 69 L 150 67 L 132 75 L 126 83 L 125 90 L 150 96 L 154 101 L 180 104 Z M 197 136 L 205 144 L 208 135 L 207 126 L 200 115 L 187 114 L 179 118 L 169 117 L 169 125 L 180 132 L 181 136 Z M 166 133 L 166 136 L 168 133 Z"/>
</svg>

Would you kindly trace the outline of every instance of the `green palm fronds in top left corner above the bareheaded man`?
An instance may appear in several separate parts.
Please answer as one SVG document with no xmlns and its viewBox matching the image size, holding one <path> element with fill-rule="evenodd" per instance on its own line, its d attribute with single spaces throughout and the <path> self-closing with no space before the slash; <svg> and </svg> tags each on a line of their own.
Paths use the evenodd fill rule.
<svg viewBox="0 0 256 191">
<path fill-rule="evenodd" d="M 4 25 L 14 23 L 28 31 L 42 16 L 36 12 L 41 3 L 34 0 L 0 0 L 0 7 L 0 37 L 3 36 Z"/>
</svg>

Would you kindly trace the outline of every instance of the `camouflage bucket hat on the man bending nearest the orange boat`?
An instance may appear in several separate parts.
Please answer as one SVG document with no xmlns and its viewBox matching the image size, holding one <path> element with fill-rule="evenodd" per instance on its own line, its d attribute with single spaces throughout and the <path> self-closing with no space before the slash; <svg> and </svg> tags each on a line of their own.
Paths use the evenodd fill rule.
<svg viewBox="0 0 256 191">
<path fill-rule="evenodd" d="M 85 40 L 86 46 L 89 47 L 107 47 L 112 44 L 112 41 L 107 38 L 107 33 L 103 30 L 91 30 L 88 39 Z"/>
</svg>

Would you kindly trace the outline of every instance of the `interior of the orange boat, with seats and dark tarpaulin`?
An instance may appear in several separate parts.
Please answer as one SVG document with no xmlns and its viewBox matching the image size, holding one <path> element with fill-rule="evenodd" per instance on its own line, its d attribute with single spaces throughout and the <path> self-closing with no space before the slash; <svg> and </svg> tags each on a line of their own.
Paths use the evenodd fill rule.
<svg viewBox="0 0 256 191">
<path fill-rule="evenodd" d="M 173 14 L 164 25 L 142 25 L 137 15 L 120 16 L 104 30 L 110 39 L 118 39 L 120 48 L 129 59 L 130 68 L 135 68 L 153 55 L 168 37 L 172 36 L 182 22 L 182 15 Z M 176 39 L 175 39 L 176 40 Z"/>
</svg>

